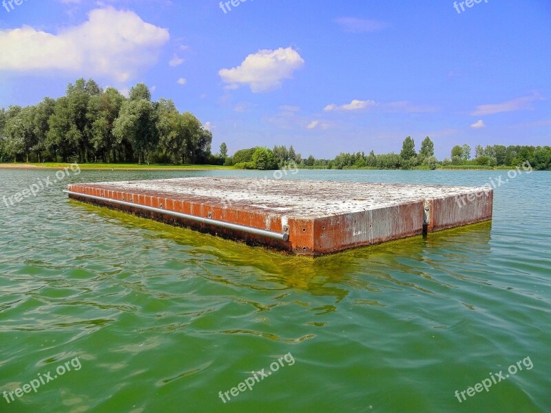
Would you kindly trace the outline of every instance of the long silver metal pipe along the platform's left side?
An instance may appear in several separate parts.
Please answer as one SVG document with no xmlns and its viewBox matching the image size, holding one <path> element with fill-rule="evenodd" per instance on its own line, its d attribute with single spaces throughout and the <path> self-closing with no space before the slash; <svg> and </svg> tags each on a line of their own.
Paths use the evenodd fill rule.
<svg viewBox="0 0 551 413">
<path fill-rule="evenodd" d="M 133 208 L 143 209 L 145 211 L 163 213 L 165 215 L 171 215 L 171 216 L 174 216 L 174 217 L 177 217 L 177 218 L 183 218 L 183 219 L 189 220 L 189 221 L 202 222 L 203 224 L 220 226 L 221 228 L 226 228 L 226 229 L 233 229 L 234 231 L 241 231 L 241 232 L 244 232 L 244 233 L 249 233 L 249 234 L 254 234 L 254 235 L 262 235 L 264 237 L 272 238 L 273 240 L 280 240 L 280 241 L 288 241 L 289 240 L 289 234 L 288 233 L 278 233 L 278 232 L 275 232 L 275 231 L 268 231 L 266 229 L 254 228 L 253 226 L 232 224 L 231 222 L 213 220 L 212 218 L 202 218 L 202 217 L 198 217 L 196 215 L 189 215 L 188 213 L 169 211 L 168 209 L 147 207 L 146 205 L 134 204 L 133 202 L 125 202 L 125 201 L 114 200 L 112 198 L 103 198 L 101 196 L 96 196 L 96 195 L 88 195 L 87 193 L 79 193 L 79 192 L 73 192 L 73 191 L 63 191 L 63 192 L 68 193 L 69 195 L 76 195 L 76 196 L 81 196 L 83 198 L 90 198 L 92 200 L 110 202 L 112 204 L 125 205 L 126 207 L 133 207 Z"/>
</svg>

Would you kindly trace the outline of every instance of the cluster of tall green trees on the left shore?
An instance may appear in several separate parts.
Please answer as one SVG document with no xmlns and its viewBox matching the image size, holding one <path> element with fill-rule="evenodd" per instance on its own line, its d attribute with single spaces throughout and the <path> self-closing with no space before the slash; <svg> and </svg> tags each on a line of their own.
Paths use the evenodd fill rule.
<svg viewBox="0 0 551 413">
<path fill-rule="evenodd" d="M 0 109 L 4 162 L 222 163 L 211 142 L 193 114 L 180 114 L 171 100 L 153 102 L 143 83 L 125 98 L 79 79 L 61 98 Z"/>
</svg>

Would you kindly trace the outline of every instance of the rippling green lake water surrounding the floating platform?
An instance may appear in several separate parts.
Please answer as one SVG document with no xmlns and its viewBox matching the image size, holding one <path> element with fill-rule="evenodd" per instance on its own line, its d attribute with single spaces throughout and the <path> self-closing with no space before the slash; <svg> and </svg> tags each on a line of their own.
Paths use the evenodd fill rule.
<svg viewBox="0 0 551 413">
<path fill-rule="evenodd" d="M 299 171 L 291 178 L 476 186 L 502 176 L 492 222 L 315 260 L 61 192 L 265 175 L 70 171 L 12 206 L 55 171 L 0 169 L 0 412 L 551 412 L 549 172 Z M 37 392 L 13 393 L 38 379 Z"/>
</svg>

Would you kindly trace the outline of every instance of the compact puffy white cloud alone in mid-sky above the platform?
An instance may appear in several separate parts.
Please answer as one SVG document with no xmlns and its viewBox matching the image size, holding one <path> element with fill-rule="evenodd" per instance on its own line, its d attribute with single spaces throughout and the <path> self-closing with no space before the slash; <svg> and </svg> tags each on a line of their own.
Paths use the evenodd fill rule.
<svg viewBox="0 0 551 413">
<path fill-rule="evenodd" d="M 284 79 L 304 65 L 304 59 L 292 47 L 277 50 L 259 50 L 249 54 L 238 67 L 221 69 L 218 74 L 228 89 L 249 85 L 253 93 L 278 89 Z"/>
</svg>

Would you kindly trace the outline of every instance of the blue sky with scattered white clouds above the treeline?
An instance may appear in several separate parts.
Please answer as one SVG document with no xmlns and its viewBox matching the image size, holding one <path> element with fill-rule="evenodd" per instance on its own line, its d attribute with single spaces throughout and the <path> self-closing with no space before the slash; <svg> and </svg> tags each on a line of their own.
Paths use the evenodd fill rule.
<svg viewBox="0 0 551 413">
<path fill-rule="evenodd" d="M 214 152 L 551 145 L 548 0 L 21 1 L 0 7 L 0 107 L 85 77 L 146 83 Z"/>
</svg>

